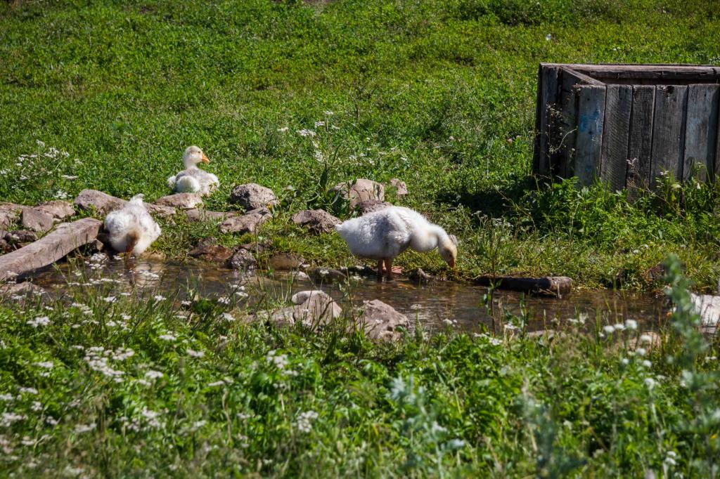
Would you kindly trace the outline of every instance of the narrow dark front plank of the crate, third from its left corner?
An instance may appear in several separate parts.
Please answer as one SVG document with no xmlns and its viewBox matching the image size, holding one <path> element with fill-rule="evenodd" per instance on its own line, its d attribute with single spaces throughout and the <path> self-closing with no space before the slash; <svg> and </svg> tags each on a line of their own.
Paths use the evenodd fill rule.
<svg viewBox="0 0 720 479">
<path fill-rule="evenodd" d="M 647 189 L 652 170 L 652 121 L 655 111 L 655 87 L 634 86 L 630 115 L 630 134 L 626 185 L 631 196 L 637 189 Z"/>
</svg>

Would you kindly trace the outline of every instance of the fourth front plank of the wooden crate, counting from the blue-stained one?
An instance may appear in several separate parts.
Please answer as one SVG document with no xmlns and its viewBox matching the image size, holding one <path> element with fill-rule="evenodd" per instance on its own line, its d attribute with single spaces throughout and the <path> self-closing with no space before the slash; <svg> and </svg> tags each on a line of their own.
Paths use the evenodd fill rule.
<svg viewBox="0 0 720 479">
<path fill-rule="evenodd" d="M 652 185 L 657 185 L 657 178 L 663 171 L 674 175 L 675 178 L 683 178 L 687 99 L 687 86 L 655 87 L 655 111 L 652 127 Z"/>
</svg>

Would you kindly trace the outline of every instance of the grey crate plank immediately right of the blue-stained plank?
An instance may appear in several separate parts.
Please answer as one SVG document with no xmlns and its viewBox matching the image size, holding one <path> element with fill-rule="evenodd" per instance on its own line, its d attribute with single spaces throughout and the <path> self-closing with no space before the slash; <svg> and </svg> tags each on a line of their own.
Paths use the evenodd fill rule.
<svg viewBox="0 0 720 479">
<path fill-rule="evenodd" d="M 625 188 L 631 109 L 632 87 L 608 85 L 605 96 L 600 178 L 608 183 L 612 191 Z"/>
</svg>

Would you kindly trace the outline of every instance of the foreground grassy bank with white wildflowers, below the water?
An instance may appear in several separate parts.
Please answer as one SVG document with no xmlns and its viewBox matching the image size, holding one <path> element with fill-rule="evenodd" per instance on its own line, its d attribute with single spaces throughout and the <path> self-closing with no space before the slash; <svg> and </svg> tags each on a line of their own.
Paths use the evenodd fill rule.
<svg viewBox="0 0 720 479">
<path fill-rule="evenodd" d="M 187 308 L 112 282 L 73 286 L 62 301 L 9 301 L 0 306 L 0 470 L 714 477 L 718 345 L 697 332 L 679 270 L 672 263 L 667 278 L 678 312 L 652 347 L 632 321 L 588 335 L 568 322 L 534 339 L 508 316 L 514 339 L 418 329 L 375 344 L 343 321 L 322 331 L 247 324 L 254 310 L 242 294 Z M 287 299 L 265 293 L 258 307 Z"/>
</svg>

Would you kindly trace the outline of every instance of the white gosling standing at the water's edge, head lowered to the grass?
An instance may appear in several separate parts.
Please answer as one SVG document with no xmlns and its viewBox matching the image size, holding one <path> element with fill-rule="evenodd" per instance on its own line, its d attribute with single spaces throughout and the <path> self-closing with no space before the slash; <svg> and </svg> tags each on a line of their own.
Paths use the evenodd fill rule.
<svg viewBox="0 0 720 479">
<path fill-rule="evenodd" d="M 353 255 L 377 260 L 378 280 L 382 280 L 383 263 L 387 278 L 392 278 L 392 260 L 408 248 L 418 252 L 438 248 L 440 256 L 451 268 L 455 268 L 456 237 L 412 209 L 390 206 L 348 219 L 336 225 L 335 229 Z"/>
</svg>

